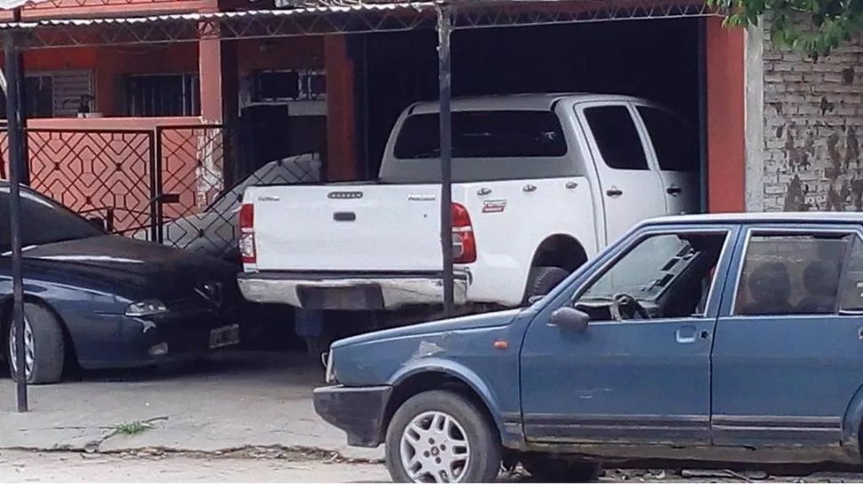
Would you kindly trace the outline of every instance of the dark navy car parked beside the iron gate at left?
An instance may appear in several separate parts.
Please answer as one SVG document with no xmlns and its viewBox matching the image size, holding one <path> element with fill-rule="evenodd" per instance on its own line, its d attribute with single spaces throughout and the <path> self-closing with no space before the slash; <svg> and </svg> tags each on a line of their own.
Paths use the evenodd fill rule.
<svg viewBox="0 0 863 484">
<path fill-rule="evenodd" d="M 15 375 L 8 183 L 0 183 L 0 337 Z M 21 190 L 28 383 L 85 369 L 147 367 L 239 343 L 243 304 L 229 263 L 109 235 Z"/>
</svg>

